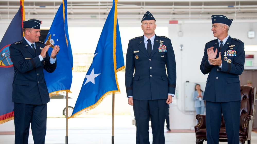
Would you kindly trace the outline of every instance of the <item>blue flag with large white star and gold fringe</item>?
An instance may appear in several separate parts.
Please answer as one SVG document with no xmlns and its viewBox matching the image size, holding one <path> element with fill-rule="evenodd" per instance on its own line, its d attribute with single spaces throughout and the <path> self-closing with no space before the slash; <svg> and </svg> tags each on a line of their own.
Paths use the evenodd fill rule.
<svg viewBox="0 0 257 144">
<path fill-rule="evenodd" d="M 124 69 L 120 31 L 117 19 L 117 0 L 103 26 L 71 118 L 98 106 L 110 94 L 119 94 L 117 72 Z"/>
</svg>

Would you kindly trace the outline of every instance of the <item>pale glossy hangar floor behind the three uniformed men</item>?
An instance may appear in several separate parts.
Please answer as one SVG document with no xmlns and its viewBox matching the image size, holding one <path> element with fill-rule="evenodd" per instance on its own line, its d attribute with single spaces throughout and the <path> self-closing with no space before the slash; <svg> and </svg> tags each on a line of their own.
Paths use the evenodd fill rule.
<svg viewBox="0 0 257 144">
<path fill-rule="evenodd" d="M 12 123 L 12 122 L 10 122 Z M 96 115 L 79 117 L 68 120 L 69 144 L 111 144 L 112 118 L 109 115 Z M 1 128 L 1 125 L 0 125 Z M 65 144 L 66 136 L 65 118 L 48 118 L 46 144 Z M 175 131 L 175 130 L 174 130 Z M 152 130 L 149 128 L 149 133 Z M 150 143 L 152 143 L 150 134 Z M 116 115 L 114 118 L 114 143 L 135 144 L 136 127 L 131 125 L 131 117 L 128 115 Z M 195 143 L 194 132 L 167 132 L 165 131 L 165 143 L 190 144 Z M 206 141 L 204 142 L 207 143 Z M 225 142 L 220 142 L 224 143 Z M 257 143 L 257 133 L 252 132 L 252 144 Z M 14 144 L 14 135 L 0 135 L 0 144 Z M 29 144 L 33 144 L 32 134 L 29 135 Z"/>
</svg>

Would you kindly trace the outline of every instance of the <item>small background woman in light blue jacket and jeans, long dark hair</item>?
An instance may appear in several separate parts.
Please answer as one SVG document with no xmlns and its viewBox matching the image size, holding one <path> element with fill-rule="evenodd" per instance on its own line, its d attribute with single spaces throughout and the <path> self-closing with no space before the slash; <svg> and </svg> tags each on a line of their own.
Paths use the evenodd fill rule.
<svg viewBox="0 0 257 144">
<path fill-rule="evenodd" d="M 203 115 L 205 109 L 205 103 L 202 100 L 203 98 L 203 91 L 199 84 L 196 84 L 195 90 L 193 93 L 193 100 L 194 100 L 194 107 L 196 108 L 196 114 Z"/>
</svg>

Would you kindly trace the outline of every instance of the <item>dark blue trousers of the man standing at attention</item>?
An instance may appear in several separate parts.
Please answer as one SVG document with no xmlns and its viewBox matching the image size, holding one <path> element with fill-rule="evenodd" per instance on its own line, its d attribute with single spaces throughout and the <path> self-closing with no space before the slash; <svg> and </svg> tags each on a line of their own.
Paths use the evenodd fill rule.
<svg viewBox="0 0 257 144">
<path fill-rule="evenodd" d="M 153 144 L 164 144 L 164 122 L 166 117 L 166 99 L 133 100 L 134 115 L 137 123 L 136 144 L 150 144 L 149 118 L 153 131 Z"/>
</svg>

